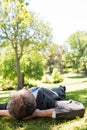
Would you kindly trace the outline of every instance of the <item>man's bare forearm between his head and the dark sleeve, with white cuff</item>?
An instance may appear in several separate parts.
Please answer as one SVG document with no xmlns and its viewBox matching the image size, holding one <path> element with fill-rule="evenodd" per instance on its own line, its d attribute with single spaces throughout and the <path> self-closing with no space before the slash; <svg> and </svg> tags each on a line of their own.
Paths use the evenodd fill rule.
<svg viewBox="0 0 87 130">
<path fill-rule="evenodd" d="M 34 113 L 32 114 L 32 116 L 26 117 L 26 118 L 24 118 L 24 120 L 26 120 L 26 119 L 32 119 L 32 118 L 36 118 L 36 117 L 51 117 L 51 118 L 56 118 L 55 109 L 47 109 L 47 110 L 36 109 L 34 111 Z"/>
</svg>

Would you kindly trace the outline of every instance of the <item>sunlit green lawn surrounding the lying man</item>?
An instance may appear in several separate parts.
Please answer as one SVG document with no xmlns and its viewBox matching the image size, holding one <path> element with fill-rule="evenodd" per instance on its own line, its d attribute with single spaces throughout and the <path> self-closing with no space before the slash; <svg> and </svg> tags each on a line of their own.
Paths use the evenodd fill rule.
<svg viewBox="0 0 87 130">
<path fill-rule="evenodd" d="M 65 80 L 62 84 L 67 84 L 66 99 L 74 99 L 84 104 L 86 112 L 83 118 L 74 120 L 36 118 L 27 121 L 17 121 L 1 117 L 0 130 L 87 130 L 87 77 L 75 76 L 65 76 Z M 57 85 L 60 84 L 56 84 L 56 86 Z M 55 85 L 45 84 L 45 87 L 47 86 L 54 87 Z M 7 101 L 9 93 L 10 91 L 0 92 L 0 102 Z"/>
</svg>

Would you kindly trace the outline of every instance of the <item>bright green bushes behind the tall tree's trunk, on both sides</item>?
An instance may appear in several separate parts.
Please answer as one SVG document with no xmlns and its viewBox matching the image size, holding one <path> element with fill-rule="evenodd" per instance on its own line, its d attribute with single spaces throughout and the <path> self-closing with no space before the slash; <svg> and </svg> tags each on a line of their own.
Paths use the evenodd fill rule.
<svg viewBox="0 0 87 130">
<path fill-rule="evenodd" d="M 9 52 L 10 50 L 10 52 Z M 10 47 L 6 47 L 0 55 L 0 76 L 2 76 L 3 81 L 11 81 L 10 83 L 14 84 L 17 81 L 15 73 L 15 64 L 14 64 L 14 53 Z M 27 79 L 40 80 L 43 76 L 43 57 L 42 54 L 36 51 L 30 52 L 30 54 L 24 54 L 21 59 L 21 72 L 22 72 L 22 83 L 26 84 Z"/>
</svg>

